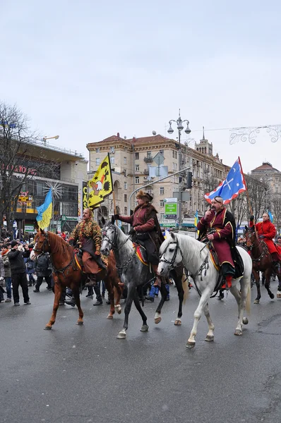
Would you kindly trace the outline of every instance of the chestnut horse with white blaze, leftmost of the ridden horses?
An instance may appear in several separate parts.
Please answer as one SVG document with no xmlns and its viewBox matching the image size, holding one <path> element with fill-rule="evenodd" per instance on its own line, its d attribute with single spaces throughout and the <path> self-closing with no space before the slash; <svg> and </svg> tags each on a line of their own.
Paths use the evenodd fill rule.
<svg viewBox="0 0 281 423">
<path fill-rule="evenodd" d="M 66 287 L 71 288 L 79 310 L 79 319 L 77 324 L 83 324 L 83 311 L 80 306 L 79 290 L 81 284 L 84 286 L 87 274 L 82 271 L 80 264 L 78 264 L 73 248 L 59 235 L 40 230 L 40 232 L 37 232 L 37 235 L 35 236 L 35 246 L 30 254 L 30 258 L 34 260 L 43 252 L 49 252 L 52 256 L 52 276 L 54 278 L 54 307 L 51 319 L 45 326 L 45 329 L 52 329 L 52 326 L 56 321 L 56 312 L 59 308 L 61 291 Z M 115 309 L 118 314 L 121 313 L 120 299 L 122 294 L 113 253 L 108 257 L 107 270 L 101 271 L 97 275 L 97 281 L 103 280 L 109 293 L 110 311 L 107 319 L 113 319 Z M 115 307 L 114 291 L 116 293 Z"/>
</svg>

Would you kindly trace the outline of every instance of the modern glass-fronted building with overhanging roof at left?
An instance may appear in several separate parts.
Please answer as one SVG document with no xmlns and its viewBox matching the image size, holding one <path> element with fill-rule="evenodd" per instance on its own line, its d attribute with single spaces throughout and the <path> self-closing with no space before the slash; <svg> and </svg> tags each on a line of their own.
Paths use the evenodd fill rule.
<svg viewBox="0 0 281 423">
<path fill-rule="evenodd" d="M 13 172 L 15 186 L 25 178 L 14 219 L 18 230 L 32 233 L 36 228 L 36 207 L 44 203 L 47 191 L 56 188 L 53 196 L 54 215 L 51 229 L 71 231 L 82 216 L 83 186 L 87 186 L 87 164 L 81 154 L 49 145 L 46 141 L 31 142 L 30 161 Z M 30 165 L 32 168 L 30 168 Z"/>
</svg>

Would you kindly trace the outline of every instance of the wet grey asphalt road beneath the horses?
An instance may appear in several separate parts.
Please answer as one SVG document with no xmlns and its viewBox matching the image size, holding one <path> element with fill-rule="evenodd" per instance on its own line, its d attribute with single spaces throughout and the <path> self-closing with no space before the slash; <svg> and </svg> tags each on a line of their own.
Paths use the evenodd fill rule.
<svg viewBox="0 0 281 423">
<path fill-rule="evenodd" d="M 133 309 L 126 340 L 116 339 L 124 314 L 107 320 L 108 306 L 92 307 L 85 292 L 84 326 L 75 324 L 77 309 L 64 306 L 52 331 L 43 331 L 52 309 L 44 288 L 30 294 L 30 306 L 1 303 L 0 422 L 280 423 L 281 300 L 263 290 L 241 337 L 232 296 L 212 300 L 215 342 L 204 342 L 203 317 L 196 348 L 186 350 L 194 290 L 181 327 L 173 325 L 172 288 L 159 325 L 155 303 L 145 303 L 148 333 Z"/>
</svg>

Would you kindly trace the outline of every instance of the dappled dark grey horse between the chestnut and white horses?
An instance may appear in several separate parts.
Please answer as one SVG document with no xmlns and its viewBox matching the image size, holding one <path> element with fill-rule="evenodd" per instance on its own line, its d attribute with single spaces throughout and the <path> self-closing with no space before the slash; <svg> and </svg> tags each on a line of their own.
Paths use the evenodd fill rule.
<svg viewBox="0 0 281 423">
<path fill-rule="evenodd" d="M 128 329 L 128 315 L 131 311 L 132 302 L 140 313 L 140 317 L 143 319 L 143 325 L 141 326 L 140 331 L 148 331 L 147 317 L 143 312 L 143 309 L 140 307 L 137 288 L 145 286 L 145 284 L 153 281 L 154 274 L 150 271 L 150 266 L 148 266 L 148 264 L 145 264 L 138 259 L 136 256 L 136 249 L 134 249 L 130 237 L 125 235 L 121 229 L 114 224 L 115 222 L 113 217 L 111 221 L 109 220 L 107 222 L 103 219 L 102 223 L 104 226 L 102 227 L 102 247 L 100 251 L 104 255 L 109 255 L 109 251 L 113 250 L 121 281 L 128 288 L 126 307 L 124 309 L 124 325 L 123 329 L 117 335 L 118 339 L 124 339 L 126 338 L 126 330 Z M 189 292 L 189 288 L 186 282 L 187 278 L 185 275 L 183 276 L 183 266 L 178 266 L 177 269 L 171 270 L 170 274 L 174 279 L 179 296 L 179 312 L 174 324 L 176 326 L 180 326 L 182 303 Z M 160 292 L 161 300 L 155 312 L 155 324 L 159 324 L 162 319 L 161 310 L 167 298 L 167 289 L 163 283 L 161 283 Z"/>
</svg>

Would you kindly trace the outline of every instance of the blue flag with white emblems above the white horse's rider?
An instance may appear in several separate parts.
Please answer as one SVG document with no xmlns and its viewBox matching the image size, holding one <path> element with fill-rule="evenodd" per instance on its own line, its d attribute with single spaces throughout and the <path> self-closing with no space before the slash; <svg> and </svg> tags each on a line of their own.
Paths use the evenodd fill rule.
<svg viewBox="0 0 281 423">
<path fill-rule="evenodd" d="M 205 194 L 205 199 L 210 203 L 214 197 L 222 197 L 223 204 L 231 202 L 238 195 L 246 191 L 246 181 L 244 179 L 241 162 L 238 158 L 230 169 L 225 180 L 212 192 Z"/>
</svg>

